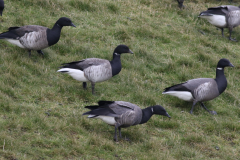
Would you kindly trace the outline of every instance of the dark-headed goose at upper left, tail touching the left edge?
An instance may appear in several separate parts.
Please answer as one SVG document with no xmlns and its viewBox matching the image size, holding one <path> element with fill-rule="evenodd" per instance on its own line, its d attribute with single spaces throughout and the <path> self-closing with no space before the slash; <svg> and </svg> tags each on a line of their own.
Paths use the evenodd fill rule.
<svg viewBox="0 0 240 160">
<path fill-rule="evenodd" d="M 0 39 L 27 49 L 29 56 L 31 56 L 31 50 L 37 50 L 43 55 L 42 49 L 58 42 L 63 26 L 76 27 L 69 18 L 61 17 L 52 29 L 37 25 L 10 27 L 7 32 L 0 34 Z"/>
</svg>

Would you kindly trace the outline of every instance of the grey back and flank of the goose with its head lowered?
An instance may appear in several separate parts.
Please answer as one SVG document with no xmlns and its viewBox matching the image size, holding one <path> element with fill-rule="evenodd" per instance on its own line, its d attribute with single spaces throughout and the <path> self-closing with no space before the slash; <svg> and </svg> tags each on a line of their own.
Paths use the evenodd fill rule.
<svg viewBox="0 0 240 160">
<path fill-rule="evenodd" d="M 115 118 L 115 120 L 121 127 L 137 125 L 142 120 L 142 109 L 130 102 L 115 101 L 109 107 L 120 115 L 120 117 Z"/>
</svg>

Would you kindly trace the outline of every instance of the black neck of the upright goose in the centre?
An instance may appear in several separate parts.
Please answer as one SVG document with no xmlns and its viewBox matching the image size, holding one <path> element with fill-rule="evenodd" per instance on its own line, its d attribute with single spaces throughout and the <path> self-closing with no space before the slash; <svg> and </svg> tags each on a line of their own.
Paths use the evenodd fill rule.
<svg viewBox="0 0 240 160">
<path fill-rule="evenodd" d="M 110 61 L 110 64 L 112 67 L 112 76 L 117 75 L 122 69 L 120 56 L 121 54 L 119 53 L 113 53 L 113 59 Z"/>
</svg>

